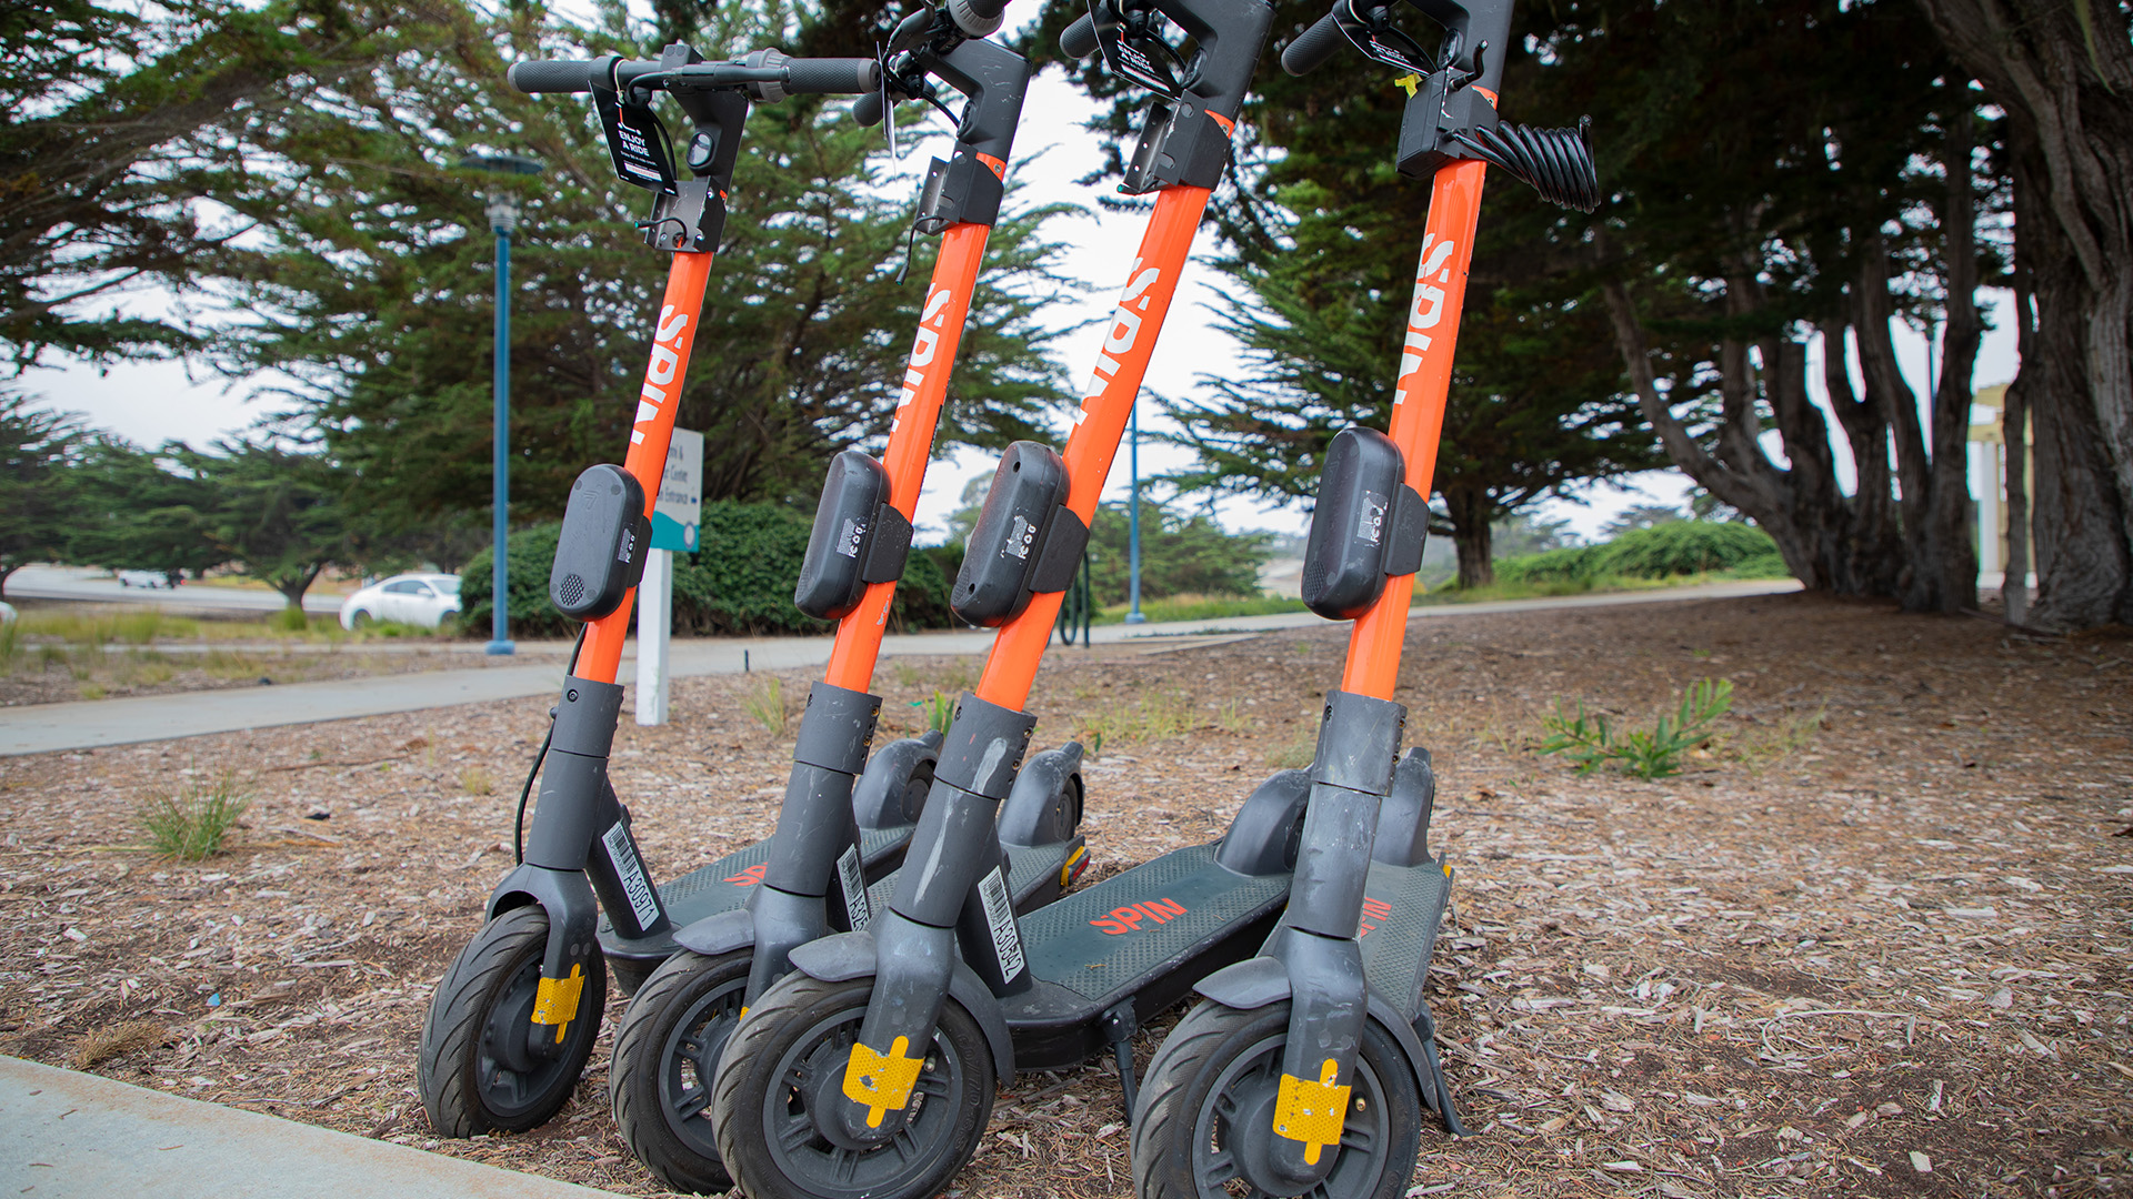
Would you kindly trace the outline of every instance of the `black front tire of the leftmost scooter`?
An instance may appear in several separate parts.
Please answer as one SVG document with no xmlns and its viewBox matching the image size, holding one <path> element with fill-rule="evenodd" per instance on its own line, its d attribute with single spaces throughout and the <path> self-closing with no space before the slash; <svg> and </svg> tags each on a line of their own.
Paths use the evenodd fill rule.
<svg viewBox="0 0 2133 1199">
<path fill-rule="evenodd" d="M 540 986 L 546 947 L 548 913 L 538 905 L 514 907 L 482 926 L 429 996 L 416 1086 L 429 1126 L 439 1137 L 523 1133 L 546 1124 L 570 1103 L 608 1005 L 608 966 L 597 954 L 587 962 L 584 988 L 578 992 L 582 1016 L 570 1022 L 563 1050 L 540 1062 L 540 1069 L 506 1069 L 486 1039 L 499 1007 L 523 1005 L 531 1011 L 525 990 Z M 514 1082 L 520 1077 L 525 1086 Z"/>
</svg>

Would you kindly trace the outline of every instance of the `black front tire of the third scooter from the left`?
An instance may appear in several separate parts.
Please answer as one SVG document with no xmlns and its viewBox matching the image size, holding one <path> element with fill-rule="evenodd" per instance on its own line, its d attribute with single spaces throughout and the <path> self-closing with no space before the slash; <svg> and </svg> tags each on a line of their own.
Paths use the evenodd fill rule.
<svg viewBox="0 0 2133 1199">
<path fill-rule="evenodd" d="M 770 1109 L 776 1105 L 787 1116 L 787 1129 L 800 1126 L 806 1118 L 804 1086 L 813 1075 L 802 1069 L 806 1058 L 825 1052 L 836 1062 L 847 1060 L 840 1045 L 855 1039 L 872 990 L 872 977 L 825 984 L 796 971 L 755 1001 L 727 1041 L 710 1086 L 710 1122 L 725 1169 L 751 1199 L 921 1199 L 939 1195 L 977 1154 L 992 1120 L 992 1050 L 977 1020 L 953 998 L 941 1009 L 913 1107 L 907 1107 L 907 1133 L 857 1154 L 847 1184 L 834 1184 L 828 1169 L 796 1178 L 802 1171 L 793 1167 L 825 1165 L 849 1150 L 819 1135 L 800 1135 L 776 1148 L 770 1144 Z M 793 1086 L 796 1080 L 802 1088 Z M 928 1118 L 928 1112 L 934 1116 Z M 881 1156 L 892 1150 L 896 1161 Z M 868 1169 L 868 1163 L 881 1165 Z"/>
</svg>

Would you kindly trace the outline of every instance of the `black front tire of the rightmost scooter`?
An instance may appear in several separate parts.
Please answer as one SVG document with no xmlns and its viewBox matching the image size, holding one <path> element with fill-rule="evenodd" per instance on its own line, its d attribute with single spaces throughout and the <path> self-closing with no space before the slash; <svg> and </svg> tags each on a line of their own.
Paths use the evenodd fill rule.
<svg viewBox="0 0 2133 1199">
<path fill-rule="evenodd" d="M 1231 1131 L 1218 1112 L 1216 1084 L 1258 1073 L 1278 1075 L 1288 1041 L 1288 1003 L 1239 1011 L 1199 1003 L 1171 1028 L 1148 1062 L 1133 1114 L 1133 1188 L 1139 1199 L 1229 1199 L 1235 1190 L 1203 1173 L 1229 1156 Z M 1254 1062 L 1258 1069 L 1254 1069 Z M 1241 1067 L 1241 1069 L 1239 1069 Z M 1224 1084 L 1226 1088 L 1229 1084 Z M 1414 1173 L 1423 1139 L 1423 1097 L 1399 1041 L 1376 1020 L 1363 1026 L 1363 1056 L 1348 1101 L 1340 1158 L 1312 1199 L 1399 1199 Z M 1256 1135 L 1271 1137 L 1269 1131 Z M 1252 1190 L 1252 1195 L 1265 1195 Z"/>
</svg>

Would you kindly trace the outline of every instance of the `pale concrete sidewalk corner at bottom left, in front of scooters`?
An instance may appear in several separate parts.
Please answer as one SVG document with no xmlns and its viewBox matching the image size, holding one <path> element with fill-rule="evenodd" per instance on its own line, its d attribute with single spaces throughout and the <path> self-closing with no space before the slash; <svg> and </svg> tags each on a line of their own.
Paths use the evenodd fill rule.
<svg viewBox="0 0 2133 1199">
<path fill-rule="evenodd" d="M 614 1195 L 6 1056 L 0 1184 L 32 1199 Z"/>
</svg>

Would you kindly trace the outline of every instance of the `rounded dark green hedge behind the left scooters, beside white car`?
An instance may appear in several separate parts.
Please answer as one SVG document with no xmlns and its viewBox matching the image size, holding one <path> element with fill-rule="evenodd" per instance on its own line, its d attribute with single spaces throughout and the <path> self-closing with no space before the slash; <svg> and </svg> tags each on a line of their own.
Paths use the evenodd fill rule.
<svg viewBox="0 0 2133 1199">
<path fill-rule="evenodd" d="M 825 621 L 793 608 L 811 514 L 779 503 L 715 501 L 704 506 L 700 550 L 674 557 L 674 632 L 680 634 L 817 634 Z M 512 533 L 512 636 L 576 636 L 578 625 L 548 604 L 548 570 L 561 525 Z M 459 625 L 488 636 L 491 555 L 474 555 L 461 576 Z M 930 629 L 951 621 L 949 576 L 930 553 L 913 553 L 896 587 L 892 627 Z"/>
</svg>

